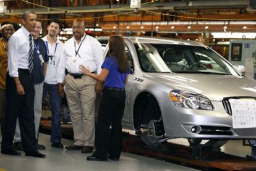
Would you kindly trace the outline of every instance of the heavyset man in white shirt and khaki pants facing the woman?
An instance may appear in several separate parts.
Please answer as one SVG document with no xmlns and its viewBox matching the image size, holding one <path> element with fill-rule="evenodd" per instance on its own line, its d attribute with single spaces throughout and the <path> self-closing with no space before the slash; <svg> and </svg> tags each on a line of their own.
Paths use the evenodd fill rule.
<svg viewBox="0 0 256 171">
<path fill-rule="evenodd" d="M 66 85 L 67 103 L 74 131 L 75 143 L 68 150 L 82 149 L 83 153 L 93 152 L 95 141 L 95 98 L 102 84 L 79 71 L 79 65 L 89 67 L 90 72 L 100 74 L 103 51 L 100 42 L 85 34 L 83 20 L 73 22 L 73 37 L 65 44 L 59 62 L 57 80 L 58 90 L 64 95 L 62 84 Z M 65 78 L 65 69 L 68 74 Z M 64 81 L 65 80 L 65 81 Z M 96 91 L 95 91 L 96 86 Z"/>
</svg>

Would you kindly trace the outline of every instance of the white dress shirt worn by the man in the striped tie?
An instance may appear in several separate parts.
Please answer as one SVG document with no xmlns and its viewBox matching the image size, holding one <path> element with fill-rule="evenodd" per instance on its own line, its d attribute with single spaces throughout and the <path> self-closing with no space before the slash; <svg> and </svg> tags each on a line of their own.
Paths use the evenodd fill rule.
<svg viewBox="0 0 256 171">
<path fill-rule="evenodd" d="M 22 26 L 8 41 L 8 70 L 11 77 L 19 77 L 18 69 L 28 69 L 30 32 Z"/>
</svg>

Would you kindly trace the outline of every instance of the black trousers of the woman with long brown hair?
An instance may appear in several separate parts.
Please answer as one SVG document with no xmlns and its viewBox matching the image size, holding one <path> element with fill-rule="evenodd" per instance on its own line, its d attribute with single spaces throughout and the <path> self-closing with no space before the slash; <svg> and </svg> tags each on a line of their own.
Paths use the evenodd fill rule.
<svg viewBox="0 0 256 171">
<path fill-rule="evenodd" d="M 121 120 L 125 101 L 125 91 L 103 90 L 98 115 L 96 151 L 93 156 L 99 159 L 108 159 L 108 156 L 119 159 L 122 148 Z"/>
</svg>

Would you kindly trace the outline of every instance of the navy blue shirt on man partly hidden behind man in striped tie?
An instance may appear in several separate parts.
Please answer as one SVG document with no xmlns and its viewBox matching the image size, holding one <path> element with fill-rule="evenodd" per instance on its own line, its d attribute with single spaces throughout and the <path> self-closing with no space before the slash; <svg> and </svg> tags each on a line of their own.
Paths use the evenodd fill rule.
<svg viewBox="0 0 256 171">
<path fill-rule="evenodd" d="M 48 62 L 48 55 L 46 51 L 45 42 L 38 38 L 37 40 L 34 40 L 36 48 L 34 48 L 33 51 L 33 80 L 35 84 L 39 84 L 45 80 L 45 77 L 43 76 L 43 64 L 41 64 L 41 60 L 39 59 L 39 55 L 37 52 L 37 48 L 43 57 L 43 60 L 45 62 Z"/>
</svg>

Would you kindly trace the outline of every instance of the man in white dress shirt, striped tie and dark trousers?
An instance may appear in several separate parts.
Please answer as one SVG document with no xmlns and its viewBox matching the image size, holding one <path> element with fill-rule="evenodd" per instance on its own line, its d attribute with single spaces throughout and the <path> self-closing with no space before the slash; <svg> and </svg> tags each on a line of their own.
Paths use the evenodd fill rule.
<svg viewBox="0 0 256 171">
<path fill-rule="evenodd" d="M 26 156 L 45 157 L 36 149 L 33 83 L 33 38 L 36 14 L 27 10 L 22 14 L 23 27 L 8 41 L 8 74 L 6 78 L 7 107 L 2 135 L 1 153 L 19 156 L 12 141 L 19 117 L 23 151 Z"/>
</svg>

